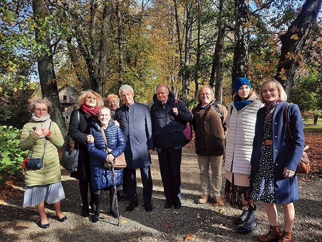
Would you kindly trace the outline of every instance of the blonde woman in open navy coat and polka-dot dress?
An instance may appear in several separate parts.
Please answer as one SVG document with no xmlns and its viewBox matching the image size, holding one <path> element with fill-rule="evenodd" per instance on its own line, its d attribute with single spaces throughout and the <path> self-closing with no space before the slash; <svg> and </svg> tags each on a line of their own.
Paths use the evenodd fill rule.
<svg viewBox="0 0 322 242">
<path fill-rule="evenodd" d="M 285 107 L 286 93 L 275 79 L 266 80 L 260 88 L 260 100 L 265 104 L 257 113 L 253 153 L 251 158 L 251 197 L 264 202 L 270 231 L 259 241 L 293 241 L 295 211 L 293 202 L 299 199 L 296 167 L 304 147 L 304 124 L 296 104 L 288 107 L 292 141 L 288 131 Z M 276 204 L 284 211 L 284 232 L 281 233 Z"/>
</svg>

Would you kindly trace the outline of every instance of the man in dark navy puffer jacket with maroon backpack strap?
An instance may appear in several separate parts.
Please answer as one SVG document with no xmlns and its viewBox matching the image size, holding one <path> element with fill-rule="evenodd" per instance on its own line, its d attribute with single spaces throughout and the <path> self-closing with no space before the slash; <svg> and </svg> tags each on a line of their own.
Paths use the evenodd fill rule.
<svg viewBox="0 0 322 242">
<path fill-rule="evenodd" d="M 185 146 L 183 124 L 192 121 L 193 115 L 186 104 L 169 92 L 164 84 L 156 86 L 151 106 L 154 146 L 159 160 L 160 173 L 164 186 L 165 208 L 181 208 L 181 155 Z"/>
</svg>

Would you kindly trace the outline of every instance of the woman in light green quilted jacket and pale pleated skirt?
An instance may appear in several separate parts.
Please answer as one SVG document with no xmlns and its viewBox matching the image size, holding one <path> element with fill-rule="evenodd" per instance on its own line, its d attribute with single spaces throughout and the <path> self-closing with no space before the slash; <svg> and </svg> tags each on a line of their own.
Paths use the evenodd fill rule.
<svg viewBox="0 0 322 242">
<path fill-rule="evenodd" d="M 57 151 L 57 147 L 62 146 L 64 140 L 57 124 L 50 119 L 52 103 L 46 97 L 32 98 L 29 109 L 32 118 L 23 127 L 20 148 L 29 150 L 29 159 L 41 158 L 43 155 L 44 158 L 43 167 L 40 169 L 25 168 L 26 190 L 23 207 L 36 206 L 40 215 L 39 226 L 48 228 L 44 201 L 54 205 L 58 221 L 63 222 L 67 219 L 60 210 L 60 201 L 65 198 L 65 194 L 61 185 Z"/>
</svg>

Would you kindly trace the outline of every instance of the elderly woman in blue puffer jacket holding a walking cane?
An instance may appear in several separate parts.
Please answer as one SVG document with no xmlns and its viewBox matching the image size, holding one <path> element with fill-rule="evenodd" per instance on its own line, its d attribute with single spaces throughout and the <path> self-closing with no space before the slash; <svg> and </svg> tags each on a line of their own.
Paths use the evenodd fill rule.
<svg viewBox="0 0 322 242">
<path fill-rule="evenodd" d="M 92 178 L 92 188 L 94 193 L 94 203 L 96 211 L 92 218 L 95 223 L 100 216 L 100 201 L 103 190 L 110 191 L 110 213 L 117 218 L 117 211 L 114 207 L 115 193 L 113 187 L 113 172 L 109 168 L 104 167 L 104 162 L 113 162 L 115 157 L 122 154 L 125 149 L 125 139 L 119 127 L 115 126 L 111 119 L 111 111 L 107 107 L 101 107 L 99 110 L 99 120 L 101 126 L 93 123 L 90 134 L 94 137 L 94 143 L 87 145 L 88 151 L 91 155 L 90 168 Z M 108 148 L 112 151 L 106 153 L 106 146 L 102 135 L 103 127 Z M 123 169 L 115 169 L 116 186 L 121 186 L 123 181 Z M 118 188 L 117 188 L 118 189 Z"/>
</svg>

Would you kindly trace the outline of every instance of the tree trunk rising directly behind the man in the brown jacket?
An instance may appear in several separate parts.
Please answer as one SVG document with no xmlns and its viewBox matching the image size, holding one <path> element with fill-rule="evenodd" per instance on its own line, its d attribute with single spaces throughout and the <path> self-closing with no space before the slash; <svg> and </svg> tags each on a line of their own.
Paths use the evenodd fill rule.
<svg viewBox="0 0 322 242">
<path fill-rule="evenodd" d="M 222 72 L 223 72 L 223 58 L 224 58 L 224 40 L 225 40 L 225 24 L 223 19 L 223 8 L 225 0 L 219 1 L 219 16 L 217 20 L 218 36 L 215 47 L 215 53 L 212 59 L 212 68 L 210 74 L 209 84 L 213 88 L 215 84 L 215 99 L 222 103 Z"/>
</svg>

